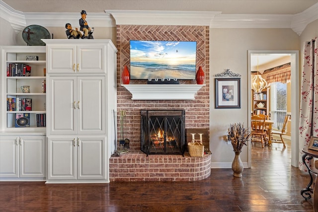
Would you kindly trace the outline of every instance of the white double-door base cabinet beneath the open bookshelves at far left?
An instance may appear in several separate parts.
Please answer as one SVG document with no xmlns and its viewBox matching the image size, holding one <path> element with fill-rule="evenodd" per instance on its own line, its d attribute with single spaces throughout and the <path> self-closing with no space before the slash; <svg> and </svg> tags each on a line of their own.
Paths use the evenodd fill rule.
<svg viewBox="0 0 318 212">
<path fill-rule="evenodd" d="M 1 136 L 1 180 L 45 179 L 44 136 Z"/>
</svg>

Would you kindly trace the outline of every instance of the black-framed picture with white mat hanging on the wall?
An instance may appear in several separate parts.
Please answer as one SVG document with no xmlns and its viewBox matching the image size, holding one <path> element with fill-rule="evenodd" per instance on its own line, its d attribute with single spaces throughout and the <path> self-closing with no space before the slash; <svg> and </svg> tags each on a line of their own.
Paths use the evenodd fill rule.
<svg viewBox="0 0 318 212">
<path fill-rule="evenodd" d="M 240 108 L 240 78 L 215 78 L 215 108 Z"/>
</svg>

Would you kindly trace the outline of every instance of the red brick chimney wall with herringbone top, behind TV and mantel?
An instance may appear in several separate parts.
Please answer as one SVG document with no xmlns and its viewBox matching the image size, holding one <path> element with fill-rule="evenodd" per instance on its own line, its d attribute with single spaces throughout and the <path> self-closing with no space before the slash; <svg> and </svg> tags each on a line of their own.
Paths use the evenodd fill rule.
<svg viewBox="0 0 318 212">
<path fill-rule="evenodd" d="M 194 100 L 132 100 L 132 94 L 121 86 L 124 65 L 130 70 L 130 40 L 196 41 L 196 69 L 202 67 L 205 86 Z M 117 136 L 120 139 L 120 111 L 126 110 L 124 138 L 130 140 L 131 150 L 140 150 L 140 110 L 184 109 L 185 128 L 209 128 L 210 75 L 209 27 L 170 25 L 117 25 Z M 196 84 L 195 80 L 180 80 L 182 84 Z M 130 84 L 147 84 L 146 80 L 131 80 Z M 118 141 L 119 142 L 119 141 Z"/>
</svg>

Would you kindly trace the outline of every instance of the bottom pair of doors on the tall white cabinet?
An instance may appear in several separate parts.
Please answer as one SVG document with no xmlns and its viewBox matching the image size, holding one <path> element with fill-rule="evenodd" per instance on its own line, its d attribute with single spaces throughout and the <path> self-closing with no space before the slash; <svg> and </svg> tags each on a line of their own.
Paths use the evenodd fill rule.
<svg viewBox="0 0 318 212">
<path fill-rule="evenodd" d="M 48 138 L 48 180 L 105 180 L 105 138 Z"/>
</svg>

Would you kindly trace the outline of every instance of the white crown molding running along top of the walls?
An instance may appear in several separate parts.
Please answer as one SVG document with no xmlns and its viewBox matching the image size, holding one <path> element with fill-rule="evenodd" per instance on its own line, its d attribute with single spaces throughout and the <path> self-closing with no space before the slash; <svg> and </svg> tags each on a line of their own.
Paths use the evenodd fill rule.
<svg viewBox="0 0 318 212">
<path fill-rule="evenodd" d="M 210 28 L 291 28 L 301 35 L 307 24 L 318 19 L 318 3 L 294 15 L 221 14 L 218 11 L 104 10 L 90 13 L 89 25 L 115 27 L 127 25 L 196 25 Z M 16 33 L 28 25 L 64 27 L 79 25 L 78 12 L 20 12 L 0 0 L 0 17 L 8 21 Z"/>
</svg>

